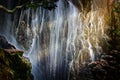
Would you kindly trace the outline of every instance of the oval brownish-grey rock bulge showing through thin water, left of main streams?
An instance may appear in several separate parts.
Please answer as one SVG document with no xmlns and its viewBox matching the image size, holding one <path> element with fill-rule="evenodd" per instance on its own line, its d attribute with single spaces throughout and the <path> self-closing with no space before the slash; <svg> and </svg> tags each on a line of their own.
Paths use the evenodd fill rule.
<svg viewBox="0 0 120 80">
<path fill-rule="evenodd" d="M 21 21 L 19 27 L 16 30 L 16 40 L 25 49 L 29 49 L 32 44 L 33 31 L 30 26 L 27 26 L 25 21 Z"/>
</svg>

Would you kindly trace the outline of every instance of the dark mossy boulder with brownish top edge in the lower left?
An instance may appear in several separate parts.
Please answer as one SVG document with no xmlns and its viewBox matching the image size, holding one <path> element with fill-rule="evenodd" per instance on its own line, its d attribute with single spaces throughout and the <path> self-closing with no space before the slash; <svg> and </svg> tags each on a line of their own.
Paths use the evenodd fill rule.
<svg viewBox="0 0 120 80">
<path fill-rule="evenodd" d="M 29 59 L 0 36 L 0 80 L 33 80 Z"/>
</svg>

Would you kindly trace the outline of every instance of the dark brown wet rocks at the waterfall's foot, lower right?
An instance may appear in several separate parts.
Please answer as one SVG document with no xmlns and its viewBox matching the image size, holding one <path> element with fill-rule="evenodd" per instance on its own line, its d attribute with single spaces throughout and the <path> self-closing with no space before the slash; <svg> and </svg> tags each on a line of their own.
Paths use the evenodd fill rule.
<svg viewBox="0 0 120 80">
<path fill-rule="evenodd" d="M 99 60 L 81 67 L 74 78 L 71 80 L 120 80 L 120 52 L 102 54 Z"/>
</svg>

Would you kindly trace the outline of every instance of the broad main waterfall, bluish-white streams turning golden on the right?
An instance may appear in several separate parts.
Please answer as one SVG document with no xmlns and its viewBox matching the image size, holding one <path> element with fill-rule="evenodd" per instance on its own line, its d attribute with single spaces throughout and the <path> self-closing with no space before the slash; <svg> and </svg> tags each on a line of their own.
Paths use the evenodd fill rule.
<svg viewBox="0 0 120 80">
<path fill-rule="evenodd" d="M 71 70 L 103 53 L 108 26 L 106 4 L 99 6 L 100 1 L 106 3 L 93 0 L 89 12 L 69 0 L 59 0 L 51 11 L 21 11 L 15 38 L 32 63 L 34 80 L 69 80 Z"/>
</svg>

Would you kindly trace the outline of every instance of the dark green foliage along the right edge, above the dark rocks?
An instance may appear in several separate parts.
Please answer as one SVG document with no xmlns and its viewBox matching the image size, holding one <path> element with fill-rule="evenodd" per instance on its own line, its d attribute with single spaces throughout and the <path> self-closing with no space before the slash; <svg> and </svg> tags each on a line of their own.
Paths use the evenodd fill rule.
<svg viewBox="0 0 120 80">
<path fill-rule="evenodd" d="M 110 22 L 110 49 L 120 51 L 120 2 L 116 1 L 113 4 Z"/>
</svg>

